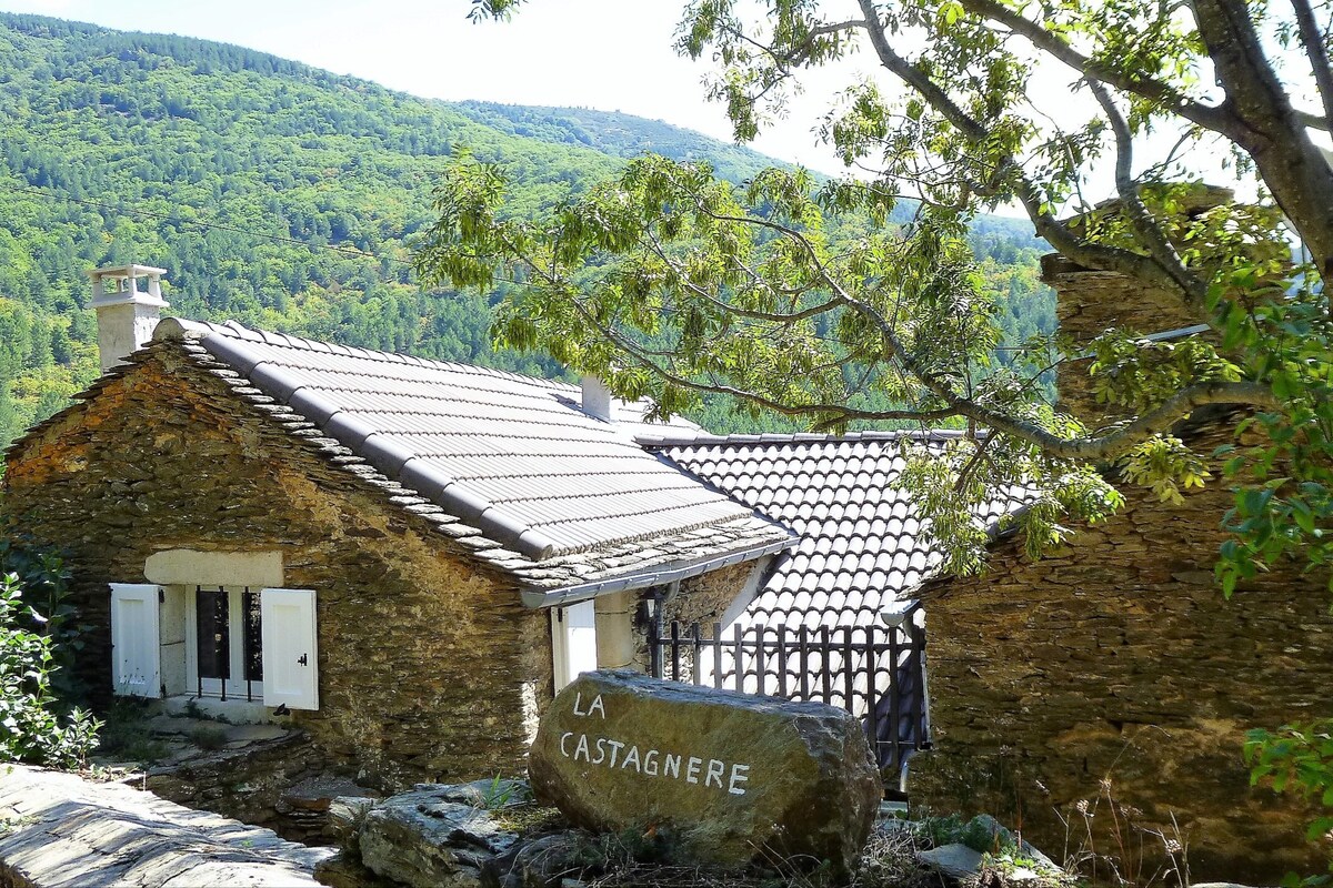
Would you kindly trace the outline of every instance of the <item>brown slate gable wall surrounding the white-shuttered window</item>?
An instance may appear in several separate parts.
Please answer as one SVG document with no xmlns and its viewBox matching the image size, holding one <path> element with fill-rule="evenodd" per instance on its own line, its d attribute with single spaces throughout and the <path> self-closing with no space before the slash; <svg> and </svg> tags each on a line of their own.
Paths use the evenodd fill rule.
<svg viewBox="0 0 1333 888">
<path fill-rule="evenodd" d="M 296 724 L 321 755 L 385 789 L 520 771 L 551 696 L 547 614 L 179 346 L 133 361 L 4 478 L 0 527 L 68 554 L 93 686 L 109 692 L 108 582 L 144 582 L 157 550 L 279 550 L 285 584 L 317 594 L 320 710 Z"/>
</svg>

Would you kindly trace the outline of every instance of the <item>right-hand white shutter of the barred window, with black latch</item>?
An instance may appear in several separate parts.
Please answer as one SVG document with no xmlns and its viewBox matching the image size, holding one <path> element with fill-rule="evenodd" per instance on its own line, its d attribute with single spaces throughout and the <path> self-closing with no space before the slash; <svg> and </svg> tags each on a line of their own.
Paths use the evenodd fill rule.
<svg viewBox="0 0 1333 888">
<path fill-rule="evenodd" d="M 315 636 L 315 591 L 260 591 L 264 647 L 264 706 L 320 708 L 319 648 Z"/>
</svg>

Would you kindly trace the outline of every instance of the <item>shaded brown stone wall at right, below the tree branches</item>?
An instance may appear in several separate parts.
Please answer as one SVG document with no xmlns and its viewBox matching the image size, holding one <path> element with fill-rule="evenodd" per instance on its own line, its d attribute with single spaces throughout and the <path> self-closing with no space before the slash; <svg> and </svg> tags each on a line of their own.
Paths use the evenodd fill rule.
<svg viewBox="0 0 1333 888">
<path fill-rule="evenodd" d="M 912 760 L 913 801 L 1021 823 L 1058 855 L 1057 812 L 1072 849 L 1073 808 L 1105 777 L 1146 823 L 1169 835 L 1176 817 L 1196 879 L 1318 871 L 1306 812 L 1249 787 L 1241 743 L 1333 711 L 1328 576 L 1284 566 L 1225 600 L 1212 564 L 1230 494 L 1214 482 L 1170 506 L 1126 493 L 1121 514 L 1041 562 L 1006 539 L 984 576 L 925 590 L 936 750 Z M 1105 801 L 1094 823 L 1109 828 Z"/>
</svg>

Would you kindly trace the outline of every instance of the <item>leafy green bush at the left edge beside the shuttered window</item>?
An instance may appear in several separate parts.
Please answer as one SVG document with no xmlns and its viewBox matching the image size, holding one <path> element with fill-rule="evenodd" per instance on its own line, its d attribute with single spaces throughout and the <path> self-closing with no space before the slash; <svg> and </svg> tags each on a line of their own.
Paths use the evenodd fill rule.
<svg viewBox="0 0 1333 888">
<path fill-rule="evenodd" d="M 51 619 L 24 600 L 19 575 L 0 575 L 0 760 L 73 768 L 87 763 L 101 723 L 81 708 L 64 708 L 52 690 L 60 670 Z"/>
</svg>

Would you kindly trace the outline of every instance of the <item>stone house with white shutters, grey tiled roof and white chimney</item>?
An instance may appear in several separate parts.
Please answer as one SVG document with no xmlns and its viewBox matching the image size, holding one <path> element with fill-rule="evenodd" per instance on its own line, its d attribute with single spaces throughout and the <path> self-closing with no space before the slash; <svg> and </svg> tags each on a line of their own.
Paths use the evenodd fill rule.
<svg viewBox="0 0 1333 888">
<path fill-rule="evenodd" d="M 67 553 L 93 687 L 285 718 L 381 788 L 513 772 L 640 600 L 716 619 L 792 543 L 596 381 L 159 324 L 160 274 L 93 273 L 105 373 L 5 454 L 0 533 Z"/>
</svg>

